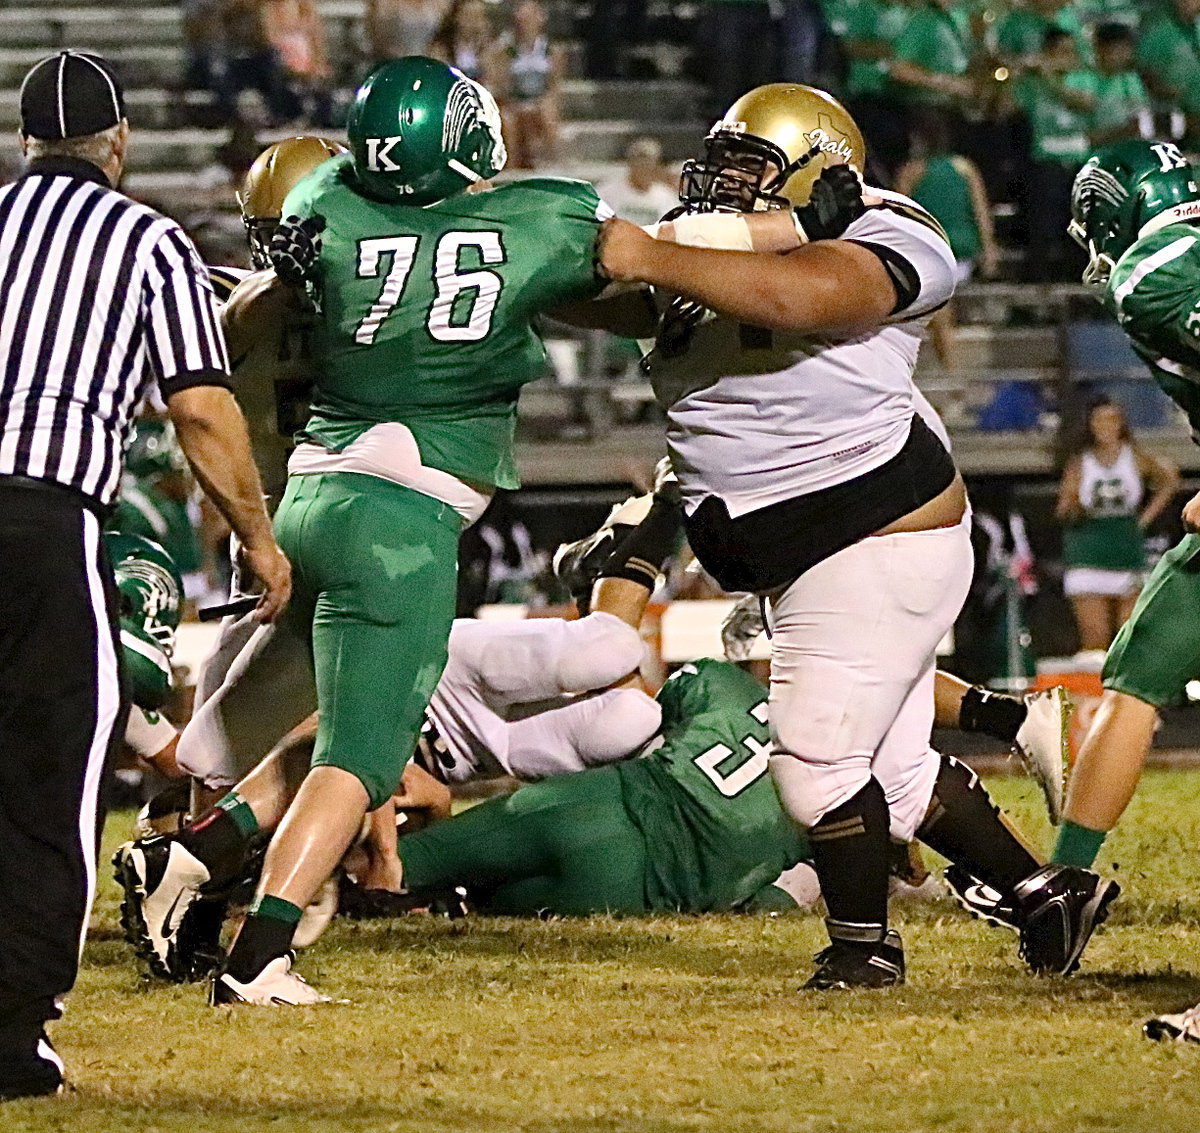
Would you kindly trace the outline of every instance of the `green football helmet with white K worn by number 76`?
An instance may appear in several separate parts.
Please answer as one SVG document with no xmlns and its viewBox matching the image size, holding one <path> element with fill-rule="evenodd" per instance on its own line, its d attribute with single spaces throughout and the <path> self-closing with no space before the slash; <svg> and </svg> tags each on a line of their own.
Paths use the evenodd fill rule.
<svg viewBox="0 0 1200 1133">
<path fill-rule="evenodd" d="M 496 176 L 508 161 L 496 100 L 424 55 L 376 67 L 354 96 L 346 132 L 359 185 L 378 200 L 433 204 Z"/>
</svg>

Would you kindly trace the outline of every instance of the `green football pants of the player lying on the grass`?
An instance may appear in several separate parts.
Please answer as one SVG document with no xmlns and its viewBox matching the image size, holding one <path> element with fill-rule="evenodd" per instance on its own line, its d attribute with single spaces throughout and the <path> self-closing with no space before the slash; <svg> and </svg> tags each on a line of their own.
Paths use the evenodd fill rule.
<svg viewBox="0 0 1200 1133">
<path fill-rule="evenodd" d="M 646 844 L 616 767 L 556 775 L 400 840 L 410 889 L 464 885 L 488 912 L 646 912 Z"/>
</svg>

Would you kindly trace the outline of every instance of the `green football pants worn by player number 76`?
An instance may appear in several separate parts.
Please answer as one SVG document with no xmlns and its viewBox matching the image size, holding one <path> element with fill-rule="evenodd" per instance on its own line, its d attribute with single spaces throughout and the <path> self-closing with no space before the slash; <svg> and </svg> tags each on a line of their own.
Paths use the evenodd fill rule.
<svg viewBox="0 0 1200 1133">
<path fill-rule="evenodd" d="M 286 617 L 312 643 L 313 766 L 358 777 L 372 809 L 403 774 L 446 663 L 462 520 L 359 473 L 292 476 L 275 535 L 292 560 Z"/>
</svg>

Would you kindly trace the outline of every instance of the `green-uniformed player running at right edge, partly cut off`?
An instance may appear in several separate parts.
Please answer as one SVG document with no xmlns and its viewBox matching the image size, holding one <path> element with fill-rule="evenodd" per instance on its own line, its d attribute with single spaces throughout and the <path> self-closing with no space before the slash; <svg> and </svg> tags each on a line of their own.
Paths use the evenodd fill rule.
<svg viewBox="0 0 1200 1133">
<path fill-rule="evenodd" d="M 1084 282 L 1103 288 L 1158 385 L 1200 437 L 1200 191 L 1170 142 L 1120 142 L 1075 178 L 1072 234 L 1090 253 Z M 1091 864 L 1141 778 L 1158 709 L 1200 677 L 1200 496 L 1190 533 L 1159 559 L 1104 659 L 1104 696 L 1067 793 L 1054 861 Z M 1200 1005 L 1146 1024 L 1151 1038 L 1200 1042 Z"/>
</svg>

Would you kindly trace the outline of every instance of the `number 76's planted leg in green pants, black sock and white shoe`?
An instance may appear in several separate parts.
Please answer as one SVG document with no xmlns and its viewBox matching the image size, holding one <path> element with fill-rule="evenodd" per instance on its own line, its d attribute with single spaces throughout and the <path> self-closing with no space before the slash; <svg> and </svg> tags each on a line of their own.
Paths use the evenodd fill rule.
<svg viewBox="0 0 1200 1133">
<path fill-rule="evenodd" d="M 400 783 L 445 665 L 461 521 L 449 505 L 368 476 L 316 480 L 280 508 L 293 562 L 320 591 L 313 657 L 320 715 L 312 771 L 271 839 L 258 894 L 214 984 L 215 1002 L 269 1002 L 288 977 L 300 913 Z M 274 965 L 270 972 L 268 969 Z M 302 985 L 301 985 L 302 987 Z M 308 989 L 311 993 L 311 989 Z"/>
</svg>

